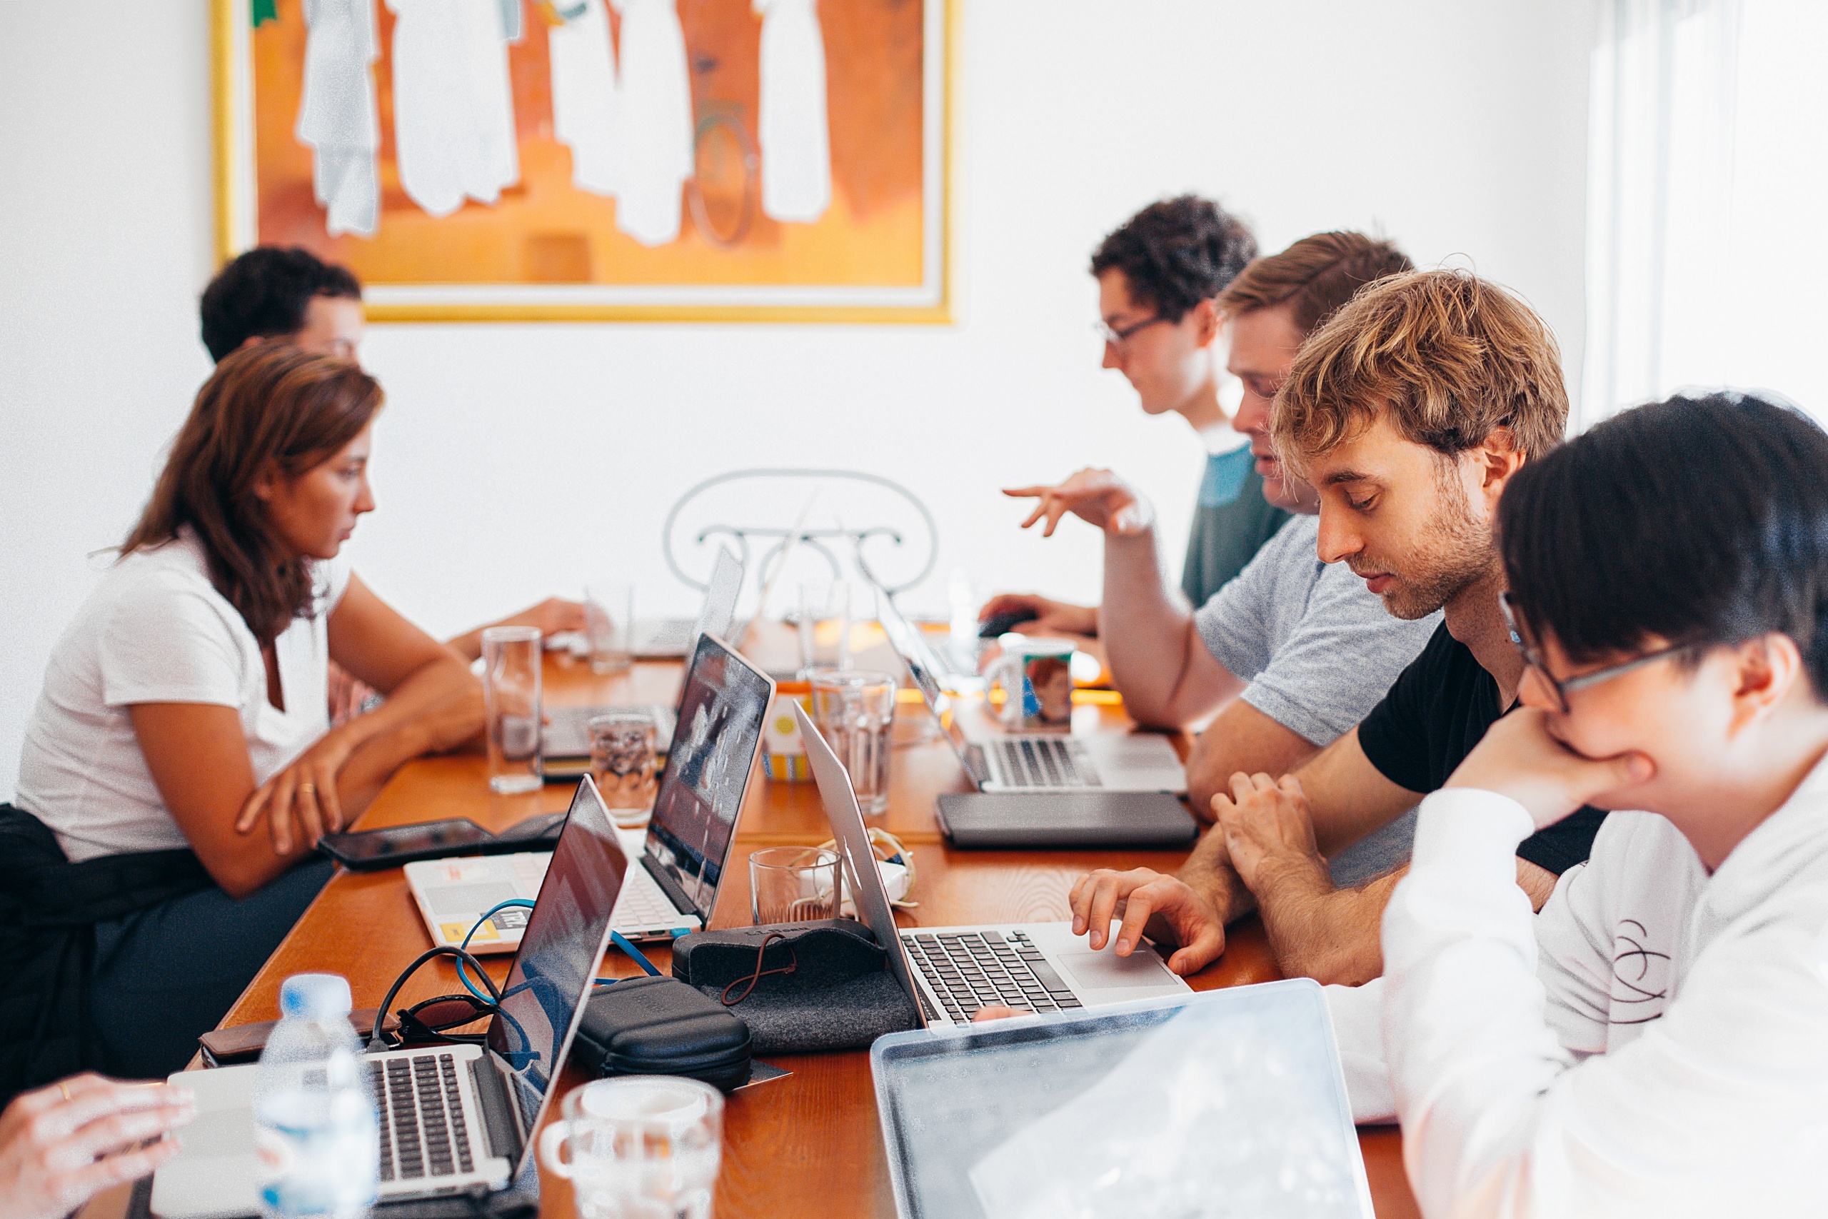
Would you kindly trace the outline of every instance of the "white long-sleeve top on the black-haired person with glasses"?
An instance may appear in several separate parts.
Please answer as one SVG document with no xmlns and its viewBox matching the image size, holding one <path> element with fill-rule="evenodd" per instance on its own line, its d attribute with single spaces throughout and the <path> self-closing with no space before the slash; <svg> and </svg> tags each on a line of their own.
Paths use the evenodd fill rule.
<svg viewBox="0 0 1828 1219">
<path fill-rule="evenodd" d="M 1612 813 L 1536 917 L 1534 826 L 1422 802 L 1384 978 L 1327 987 L 1360 1122 L 1429 1219 L 1828 1214 L 1828 762 L 1707 875 Z"/>
</svg>

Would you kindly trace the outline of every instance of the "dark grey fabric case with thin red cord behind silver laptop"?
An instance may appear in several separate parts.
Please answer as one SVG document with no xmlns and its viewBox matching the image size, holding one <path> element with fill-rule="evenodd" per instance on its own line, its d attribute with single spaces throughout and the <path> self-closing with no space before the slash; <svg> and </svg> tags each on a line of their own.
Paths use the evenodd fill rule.
<svg viewBox="0 0 1828 1219">
<path fill-rule="evenodd" d="M 693 932 L 673 941 L 673 976 L 729 1000 L 759 1055 L 866 1049 L 919 1027 L 888 954 L 856 919 Z"/>
</svg>

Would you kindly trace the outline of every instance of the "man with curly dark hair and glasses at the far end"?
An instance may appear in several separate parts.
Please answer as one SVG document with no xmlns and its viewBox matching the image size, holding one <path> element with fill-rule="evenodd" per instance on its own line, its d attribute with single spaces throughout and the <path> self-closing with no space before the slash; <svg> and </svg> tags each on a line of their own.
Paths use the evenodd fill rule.
<svg viewBox="0 0 1828 1219">
<path fill-rule="evenodd" d="M 1192 605 L 1205 605 L 1289 519 L 1263 497 L 1250 437 L 1232 428 L 1219 402 L 1225 314 L 1217 298 L 1256 252 L 1241 219 L 1212 199 L 1179 196 L 1148 205 L 1091 254 L 1104 367 L 1124 375 L 1146 415 L 1179 415 L 1206 448 L 1181 572 Z M 1093 605 L 1000 594 L 980 610 L 983 620 L 1007 614 L 1029 614 L 1015 629 L 1031 634 L 1099 634 Z"/>
</svg>

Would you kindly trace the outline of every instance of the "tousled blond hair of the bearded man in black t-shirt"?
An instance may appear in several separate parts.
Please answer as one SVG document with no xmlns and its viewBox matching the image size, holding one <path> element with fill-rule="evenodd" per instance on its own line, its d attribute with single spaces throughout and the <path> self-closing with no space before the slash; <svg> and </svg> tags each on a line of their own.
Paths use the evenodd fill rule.
<svg viewBox="0 0 1828 1219">
<path fill-rule="evenodd" d="M 1302 344 L 1270 435 L 1300 470 L 1380 415 L 1450 457 L 1497 428 L 1510 429 L 1525 457 L 1541 457 L 1568 424 L 1556 336 L 1528 305 L 1468 270 L 1373 283 Z"/>
</svg>

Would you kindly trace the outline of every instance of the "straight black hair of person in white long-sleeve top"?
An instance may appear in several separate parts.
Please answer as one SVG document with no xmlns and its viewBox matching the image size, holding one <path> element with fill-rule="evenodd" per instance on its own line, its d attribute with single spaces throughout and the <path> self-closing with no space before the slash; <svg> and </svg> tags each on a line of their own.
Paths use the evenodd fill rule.
<svg viewBox="0 0 1828 1219">
<path fill-rule="evenodd" d="M 1828 433 L 1757 395 L 1676 395 L 1526 462 L 1499 545 L 1526 629 L 1576 663 L 1795 640 L 1828 691 Z"/>
</svg>

